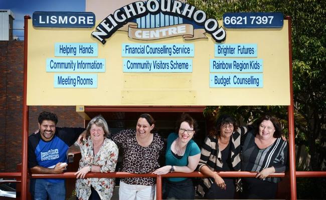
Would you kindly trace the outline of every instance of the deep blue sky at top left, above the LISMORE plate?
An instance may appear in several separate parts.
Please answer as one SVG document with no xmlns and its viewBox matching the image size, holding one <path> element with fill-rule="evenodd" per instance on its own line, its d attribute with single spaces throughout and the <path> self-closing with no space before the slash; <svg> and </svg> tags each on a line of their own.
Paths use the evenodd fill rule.
<svg viewBox="0 0 326 200">
<path fill-rule="evenodd" d="M 24 28 L 24 16 L 32 17 L 35 11 L 85 11 L 86 0 L 0 0 L 0 9 L 14 13 L 14 29 Z M 24 39 L 24 30 L 14 30 L 14 35 Z"/>
</svg>

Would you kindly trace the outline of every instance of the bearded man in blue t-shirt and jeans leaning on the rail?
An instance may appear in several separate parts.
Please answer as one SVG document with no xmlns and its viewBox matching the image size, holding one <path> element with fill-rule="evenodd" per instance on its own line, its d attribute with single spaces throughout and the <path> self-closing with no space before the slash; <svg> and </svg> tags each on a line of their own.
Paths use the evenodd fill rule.
<svg viewBox="0 0 326 200">
<path fill-rule="evenodd" d="M 62 173 L 67 166 L 67 151 L 85 128 L 56 127 L 53 112 L 41 112 L 39 131 L 28 137 L 28 167 L 32 173 Z M 65 199 L 65 180 L 61 178 L 31 179 L 33 199 Z"/>
</svg>

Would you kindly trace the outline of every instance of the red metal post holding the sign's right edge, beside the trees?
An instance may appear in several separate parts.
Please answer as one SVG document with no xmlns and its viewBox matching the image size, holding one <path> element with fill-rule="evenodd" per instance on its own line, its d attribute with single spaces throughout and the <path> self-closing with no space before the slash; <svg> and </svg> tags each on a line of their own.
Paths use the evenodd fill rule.
<svg viewBox="0 0 326 200">
<path fill-rule="evenodd" d="M 289 40 L 289 71 L 290 71 L 290 105 L 288 106 L 288 126 L 289 126 L 289 166 L 290 166 L 290 188 L 291 199 L 296 199 L 296 175 L 295 175 L 295 142 L 294 142 L 294 104 L 293 104 L 293 78 L 292 78 L 292 35 L 291 17 L 288 20 L 288 40 Z"/>
</svg>

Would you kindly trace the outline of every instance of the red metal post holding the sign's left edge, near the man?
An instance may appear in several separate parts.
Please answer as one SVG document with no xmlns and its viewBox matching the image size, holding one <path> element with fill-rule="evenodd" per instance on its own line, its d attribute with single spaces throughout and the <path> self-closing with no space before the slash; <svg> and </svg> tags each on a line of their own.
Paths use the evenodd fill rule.
<svg viewBox="0 0 326 200">
<path fill-rule="evenodd" d="M 21 199 L 27 199 L 27 139 L 28 139 L 28 106 L 27 106 L 27 38 L 28 19 L 24 16 L 24 94 L 23 94 L 23 130 L 22 130 L 22 193 Z"/>
</svg>

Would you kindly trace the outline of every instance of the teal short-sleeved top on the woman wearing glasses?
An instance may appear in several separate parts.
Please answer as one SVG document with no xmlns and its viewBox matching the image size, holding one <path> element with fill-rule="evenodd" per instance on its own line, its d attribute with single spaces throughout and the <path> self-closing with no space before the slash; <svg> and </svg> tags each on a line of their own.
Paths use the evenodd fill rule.
<svg viewBox="0 0 326 200">
<path fill-rule="evenodd" d="M 188 156 L 193 156 L 201 153 L 199 146 L 197 143 L 193 140 L 190 139 L 184 155 L 181 157 L 181 159 L 178 159 L 172 154 L 171 151 L 171 145 L 174 140 L 178 138 L 178 134 L 173 132 L 170 133 L 168 136 L 168 146 L 167 146 L 167 151 L 166 151 L 166 165 L 174 165 L 174 166 L 187 166 L 188 165 Z M 185 177 L 173 177 L 173 178 L 168 178 L 170 181 L 182 181 L 187 178 Z"/>
</svg>

